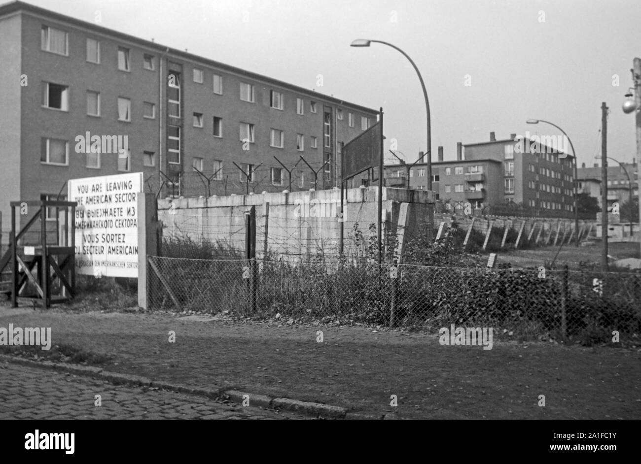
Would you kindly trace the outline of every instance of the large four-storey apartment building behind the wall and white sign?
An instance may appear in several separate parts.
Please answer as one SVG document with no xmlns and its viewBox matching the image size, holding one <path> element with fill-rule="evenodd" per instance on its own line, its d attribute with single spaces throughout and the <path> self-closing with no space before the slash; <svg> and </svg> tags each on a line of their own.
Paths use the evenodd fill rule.
<svg viewBox="0 0 641 464">
<path fill-rule="evenodd" d="M 304 156 L 318 171 L 316 188 L 330 188 L 340 178 L 340 143 L 378 116 L 19 1 L 0 5 L 0 44 L 4 232 L 10 201 L 65 193 L 65 181 L 81 177 L 143 172 L 147 191 L 165 181 L 162 196 L 245 193 L 235 162 L 251 174 L 250 191 L 282 191 L 288 174 L 276 156 L 290 169 L 298 162 L 299 190 L 315 186 Z M 87 132 L 128 136 L 127 147 L 83 153 L 76 137 Z"/>
</svg>

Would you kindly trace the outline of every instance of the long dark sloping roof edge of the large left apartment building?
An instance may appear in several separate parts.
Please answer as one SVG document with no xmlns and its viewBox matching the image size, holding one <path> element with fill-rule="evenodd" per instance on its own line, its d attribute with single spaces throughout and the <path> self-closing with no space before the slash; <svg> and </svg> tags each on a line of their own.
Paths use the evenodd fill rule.
<svg viewBox="0 0 641 464">
<path fill-rule="evenodd" d="M 79 28 L 91 29 L 92 31 L 103 33 L 104 35 L 120 38 L 127 42 L 133 42 L 142 47 L 147 47 L 148 49 L 156 50 L 161 54 L 167 52 L 167 56 L 173 56 L 174 58 L 181 58 L 187 61 L 195 61 L 197 63 L 203 63 L 203 65 L 220 68 L 222 70 L 226 70 L 234 74 L 240 74 L 241 76 L 246 76 L 250 79 L 256 79 L 258 81 L 265 81 L 266 83 L 272 83 L 276 86 L 281 86 L 281 87 L 288 88 L 290 90 L 294 90 L 296 92 L 304 93 L 305 95 L 317 95 L 319 99 L 324 99 L 329 102 L 336 103 L 338 105 L 349 106 L 349 108 L 357 109 L 358 111 L 362 111 L 363 113 L 378 113 L 376 109 L 367 108 L 366 106 L 361 106 L 354 103 L 346 102 L 345 100 L 340 100 L 335 97 L 330 97 L 328 95 L 324 95 L 322 93 L 318 93 L 310 89 L 296 86 L 294 84 L 290 84 L 285 81 L 279 81 L 278 79 L 273 79 L 272 77 L 263 76 L 262 74 L 258 74 L 256 72 L 251 72 L 242 68 L 237 68 L 235 66 L 226 65 L 225 63 L 221 63 L 220 61 L 210 60 L 209 58 L 204 58 L 196 54 L 174 49 L 172 47 L 167 47 L 165 45 L 161 45 L 156 42 L 151 42 L 149 40 L 144 40 L 142 38 L 138 38 L 133 35 L 121 33 L 119 31 L 115 31 L 114 29 L 103 28 L 102 26 L 97 26 L 92 22 L 87 22 L 87 21 L 76 19 L 71 16 L 62 15 L 60 13 L 47 10 L 46 8 L 40 8 L 39 6 L 34 6 L 29 3 L 24 3 L 22 1 L 13 1 L 10 3 L 0 4 L 0 17 L 4 15 L 9 15 L 11 13 L 16 13 L 16 12 L 26 12 L 26 13 L 33 13 L 36 15 L 46 16 L 53 20 L 58 20 L 60 22 L 67 22 L 69 24 L 72 24 L 73 26 L 78 26 Z"/>
</svg>

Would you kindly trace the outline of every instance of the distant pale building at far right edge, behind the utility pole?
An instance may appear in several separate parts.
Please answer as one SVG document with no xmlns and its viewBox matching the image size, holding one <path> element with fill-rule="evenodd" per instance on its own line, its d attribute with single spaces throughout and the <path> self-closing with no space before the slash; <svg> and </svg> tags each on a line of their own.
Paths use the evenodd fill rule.
<svg viewBox="0 0 641 464">
<path fill-rule="evenodd" d="M 633 159 L 632 163 L 623 163 L 621 166 L 615 161 L 608 160 L 608 208 L 611 208 L 613 203 L 622 205 L 629 201 L 630 183 L 632 184 L 633 200 L 639 197 L 638 170 L 635 161 Z M 601 207 L 603 204 L 601 201 L 601 166 L 594 163 L 592 168 L 586 168 L 583 163 L 578 169 L 577 176 L 579 193 L 594 196 Z"/>
</svg>

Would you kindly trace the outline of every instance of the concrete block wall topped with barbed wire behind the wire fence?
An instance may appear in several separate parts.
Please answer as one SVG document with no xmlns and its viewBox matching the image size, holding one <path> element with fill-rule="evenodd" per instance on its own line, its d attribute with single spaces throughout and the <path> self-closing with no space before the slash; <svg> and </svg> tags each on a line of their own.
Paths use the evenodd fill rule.
<svg viewBox="0 0 641 464">
<path fill-rule="evenodd" d="M 376 237 L 378 188 L 345 190 L 344 252 L 363 253 L 354 240 L 354 225 L 363 240 Z M 267 207 L 269 203 L 269 207 Z M 401 203 L 409 204 L 408 234 L 433 229 L 433 193 L 383 188 L 385 225 L 395 231 Z M 190 237 L 194 241 L 222 241 L 237 250 L 245 248 L 245 212 L 256 207 L 256 253 L 267 250 L 288 260 L 322 253 L 337 256 L 341 222 L 340 190 L 265 193 L 260 195 L 211 196 L 158 200 L 158 217 L 165 237 Z M 265 235 L 265 223 L 267 234 Z"/>
</svg>

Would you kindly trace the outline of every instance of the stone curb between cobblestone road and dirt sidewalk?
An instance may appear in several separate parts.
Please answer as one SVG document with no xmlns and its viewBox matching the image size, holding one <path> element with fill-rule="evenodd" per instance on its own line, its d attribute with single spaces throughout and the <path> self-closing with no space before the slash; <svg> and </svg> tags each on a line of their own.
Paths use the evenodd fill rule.
<svg viewBox="0 0 641 464">
<path fill-rule="evenodd" d="M 54 371 L 70 372 L 81 376 L 92 376 L 100 380 L 106 380 L 114 385 L 129 385 L 131 387 L 152 387 L 162 388 L 176 393 L 186 393 L 196 396 L 204 396 L 211 399 L 231 399 L 235 403 L 242 404 L 249 399 L 251 406 L 262 406 L 263 408 L 274 408 L 296 412 L 304 415 L 313 415 L 323 419 L 366 419 L 381 420 L 383 414 L 373 413 L 353 413 L 347 412 L 347 408 L 340 406 L 331 406 L 330 404 L 314 403 L 312 401 L 298 401 L 290 398 L 274 398 L 265 395 L 256 395 L 249 392 L 240 392 L 238 390 L 219 390 L 215 388 L 192 388 L 182 385 L 173 385 L 171 383 L 160 382 L 148 379 L 146 377 L 135 376 L 131 374 L 121 374 L 119 372 L 104 371 L 98 367 L 62 364 L 51 361 L 33 361 L 20 358 L 18 356 L 0 355 L 0 362 L 10 362 L 12 364 L 21 364 L 29 367 L 38 367 L 40 369 L 52 369 Z M 247 397 L 246 397 L 247 396 Z M 392 419 L 385 417 L 385 419 Z"/>
</svg>

